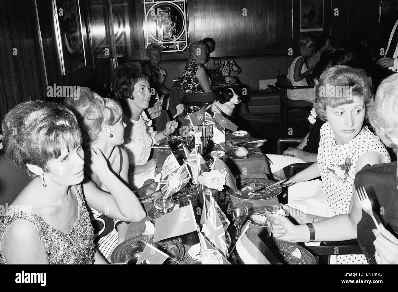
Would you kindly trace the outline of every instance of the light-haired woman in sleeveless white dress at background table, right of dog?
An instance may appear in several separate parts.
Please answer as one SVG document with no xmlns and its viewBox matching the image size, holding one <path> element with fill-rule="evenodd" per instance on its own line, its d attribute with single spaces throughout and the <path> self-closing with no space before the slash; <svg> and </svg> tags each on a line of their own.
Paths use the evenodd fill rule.
<svg viewBox="0 0 398 292">
<path fill-rule="evenodd" d="M 300 49 L 300 56 L 289 64 L 287 78 L 289 78 L 293 86 L 308 86 L 306 77 L 312 74 L 313 68 L 307 68 L 305 60 L 314 54 L 316 41 L 312 37 L 301 37 L 297 43 Z M 313 102 L 315 94 L 312 88 L 288 89 L 287 97 L 289 99 Z"/>
</svg>

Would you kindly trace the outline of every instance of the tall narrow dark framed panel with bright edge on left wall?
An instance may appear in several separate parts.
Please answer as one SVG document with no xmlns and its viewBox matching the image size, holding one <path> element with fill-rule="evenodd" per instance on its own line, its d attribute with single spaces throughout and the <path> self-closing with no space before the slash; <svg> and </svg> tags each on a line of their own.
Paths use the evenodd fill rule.
<svg viewBox="0 0 398 292">
<path fill-rule="evenodd" d="M 60 72 L 86 66 L 79 0 L 53 0 L 55 40 Z"/>
</svg>

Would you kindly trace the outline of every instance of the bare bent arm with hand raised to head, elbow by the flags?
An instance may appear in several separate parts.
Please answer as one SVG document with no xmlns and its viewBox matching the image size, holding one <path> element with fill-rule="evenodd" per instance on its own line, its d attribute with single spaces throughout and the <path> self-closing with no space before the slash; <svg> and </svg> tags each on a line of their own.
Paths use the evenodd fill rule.
<svg viewBox="0 0 398 292">
<path fill-rule="evenodd" d="M 94 183 L 86 179 L 83 194 L 87 204 L 111 218 L 127 222 L 140 222 L 146 214 L 135 194 L 109 170 L 100 149 L 90 149 L 90 168 L 100 179 L 109 193 L 101 191 Z"/>
</svg>

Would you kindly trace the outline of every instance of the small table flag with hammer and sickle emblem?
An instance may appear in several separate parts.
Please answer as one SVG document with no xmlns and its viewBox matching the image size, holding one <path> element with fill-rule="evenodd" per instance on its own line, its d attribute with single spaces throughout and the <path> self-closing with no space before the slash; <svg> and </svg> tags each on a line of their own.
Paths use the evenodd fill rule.
<svg viewBox="0 0 398 292">
<path fill-rule="evenodd" d="M 192 205 L 183 206 L 156 219 L 153 241 L 176 237 L 197 230 Z"/>
</svg>

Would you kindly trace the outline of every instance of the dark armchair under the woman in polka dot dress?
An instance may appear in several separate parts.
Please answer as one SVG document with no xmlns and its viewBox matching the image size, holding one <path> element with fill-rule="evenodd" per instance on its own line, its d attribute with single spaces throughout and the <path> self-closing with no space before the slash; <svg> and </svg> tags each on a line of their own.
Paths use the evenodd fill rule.
<svg viewBox="0 0 398 292">
<path fill-rule="evenodd" d="M 289 177 L 292 177 L 296 173 L 306 169 L 312 163 L 295 163 L 289 165 Z M 288 196 L 288 189 L 286 190 L 286 203 Z M 284 203 L 285 203 L 284 202 Z M 361 247 L 359 247 L 357 239 L 343 240 L 343 241 L 321 241 L 320 245 L 307 246 L 304 243 L 299 243 L 302 247 L 307 249 L 312 255 L 319 257 L 318 264 L 319 265 L 328 265 L 329 264 L 329 256 L 330 255 L 362 255 L 363 251 Z"/>
</svg>

